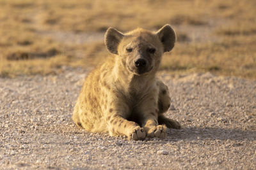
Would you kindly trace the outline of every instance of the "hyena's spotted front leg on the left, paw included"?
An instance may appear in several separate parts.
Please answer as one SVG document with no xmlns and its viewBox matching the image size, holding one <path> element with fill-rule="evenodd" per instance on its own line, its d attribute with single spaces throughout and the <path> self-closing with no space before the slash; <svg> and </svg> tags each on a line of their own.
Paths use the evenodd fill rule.
<svg viewBox="0 0 256 170">
<path fill-rule="evenodd" d="M 145 139 L 144 128 L 141 128 L 136 122 L 125 119 L 129 107 L 125 103 L 120 103 L 121 99 L 118 101 L 119 103 L 115 104 L 109 103 L 109 107 L 104 111 L 110 136 L 125 135 L 129 140 Z"/>
</svg>

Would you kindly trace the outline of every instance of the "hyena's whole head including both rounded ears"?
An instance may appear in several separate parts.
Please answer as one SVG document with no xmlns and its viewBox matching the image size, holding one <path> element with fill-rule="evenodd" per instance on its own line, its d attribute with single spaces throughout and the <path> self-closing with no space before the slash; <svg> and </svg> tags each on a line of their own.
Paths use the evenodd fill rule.
<svg viewBox="0 0 256 170">
<path fill-rule="evenodd" d="M 105 34 L 109 52 L 118 55 L 124 67 L 137 75 L 156 71 L 163 53 L 172 50 L 175 41 L 175 31 L 170 25 L 157 32 L 136 29 L 126 34 L 109 27 Z"/>
</svg>

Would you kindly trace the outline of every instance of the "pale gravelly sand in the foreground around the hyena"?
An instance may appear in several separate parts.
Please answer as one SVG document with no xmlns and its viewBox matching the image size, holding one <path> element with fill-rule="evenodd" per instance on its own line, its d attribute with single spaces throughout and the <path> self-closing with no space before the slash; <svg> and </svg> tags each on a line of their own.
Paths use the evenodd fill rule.
<svg viewBox="0 0 256 170">
<path fill-rule="evenodd" d="M 127 141 L 72 122 L 87 73 L 0 78 L 0 169 L 256 169 L 256 81 L 162 72 L 182 129 Z"/>
</svg>

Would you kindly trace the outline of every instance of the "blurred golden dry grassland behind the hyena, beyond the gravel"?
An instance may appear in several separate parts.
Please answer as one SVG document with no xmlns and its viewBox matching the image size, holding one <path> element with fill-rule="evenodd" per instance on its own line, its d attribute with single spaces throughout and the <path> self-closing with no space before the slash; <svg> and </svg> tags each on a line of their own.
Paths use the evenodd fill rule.
<svg viewBox="0 0 256 170">
<path fill-rule="evenodd" d="M 108 54 L 104 31 L 171 24 L 162 70 L 256 79 L 255 0 L 0 0 L 0 76 L 92 68 Z"/>
</svg>

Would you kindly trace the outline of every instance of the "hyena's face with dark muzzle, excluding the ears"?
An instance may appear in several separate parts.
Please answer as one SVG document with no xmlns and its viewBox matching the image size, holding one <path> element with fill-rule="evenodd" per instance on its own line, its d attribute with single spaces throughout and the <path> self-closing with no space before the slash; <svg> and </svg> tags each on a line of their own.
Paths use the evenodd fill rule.
<svg viewBox="0 0 256 170">
<path fill-rule="evenodd" d="M 149 41 L 150 39 L 156 38 L 150 32 L 140 32 L 138 36 L 125 36 L 120 42 L 118 54 L 124 66 L 131 73 L 146 74 L 154 67 L 158 67 L 163 50 L 155 41 Z"/>
</svg>

